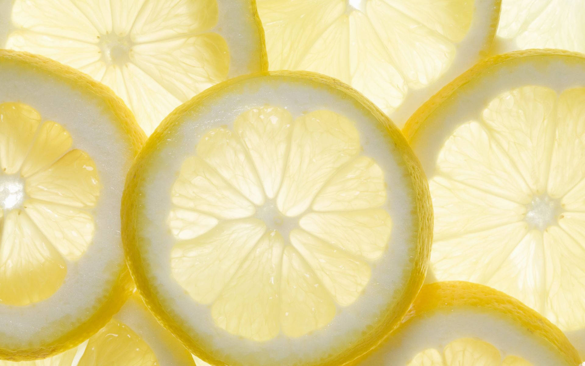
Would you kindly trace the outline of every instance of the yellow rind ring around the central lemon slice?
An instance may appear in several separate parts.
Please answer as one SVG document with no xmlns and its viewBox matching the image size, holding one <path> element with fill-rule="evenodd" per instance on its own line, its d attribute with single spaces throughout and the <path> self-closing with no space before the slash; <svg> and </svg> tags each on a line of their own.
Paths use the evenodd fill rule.
<svg viewBox="0 0 585 366">
<path fill-rule="evenodd" d="M 324 76 L 322 74 L 311 73 L 308 71 L 264 71 L 260 73 L 253 73 L 245 76 L 233 78 L 223 83 L 216 84 L 208 88 L 204 92 L 198 94 L 190 101 L 177 107 L 171 114 L 169 114 L 163 122 L 157 127 L 146 145 L 137 156 L 134 165 L 130 168 L 128 177 L 126 179 L 126 186 L 122 195 L 122 241 L 124 244 L 126 262 L 130 268 L 130 273 L 134 279 L 137 288 L 142 295 L 144 302 L 150 311 L 157 317 L 159 322 L 163 324 L 171 333 L 174 334 L 191 353 L 196 354 L 199 358 L 208 362 L 211 365 L 225 365 L 218 359 L 216 355 L 210 354 L 199 346 L 196 339 L 191 337 L 180 324 L 174 319 L 173 315 L 166 309 L 156 296 L 156 291 L 150 285 L 147 273 L 144 271 L 143 259 L 140 254 L 140 238 L 137 228 L 137 215 L 140 210 L 139 197 L 142 194 L 139 186 L 146 178 L 144 172 L 147 171 L 147 163 L 149 156 L 156 152 L 157 146 L 164 141 L 165 135 L 168 131 L 177 128 L 181 123 L 181 118 L 187 112 L 197 110 L 201 104 L 208 100 L 217 98 L 219 91 L 230 85 L 239 83 L 242 80 L 259 76 L 281 76 L 291 78 L 301 78 L 307 83 L 325 84 L 326 87 L 333 88 L 347 95 L 347 102 L 356 105 L 358 108 L 365 108 L 380 122 L 381 133 L 386 134 L 389 143 L 397 146 L 401 158 L 404 160 L 409 178 L 411 179 L 412 196 L 416 202 L 416 210 L 413 216 L 417 220 L 415 227 L 417 230 L 412 233 L 412 241 L 416 244 L 412 253 L 411 273 L 408 276 L 408 281 L 404 285 L 404 292 L 400 295 L 402 299 L 393 307 L 394 312 L 387 312 L 380 317 L 377 329 L 371 331 L 366 337 L 355 344 L 349 354 L 333 355 L 326 360 L 320 361 L 311 366 L 326 366 L 326 365 L 350 365 L 362 357 L 363 354 L 376 347 L 381 339 L 389 331 L 398 326 L 402 316 L 407 312 L 411 302 L 418 294 L 419 289 L 424 282 L 426 269 L 428 267 L 429 257 L 431 253 L 431 241 L 433 232 L 433 214 L 431 206 L 431 196 L 426 182 L 425 174 L 418 159 L 409 148 L 400 130 L 390 121 L 390 119 L 372 102 L 367 100 L 362 94 L 355 89 L 342 83 L 335 78 Z M 309 365 L 307 365 L 309 366 Z"/>
</svg>

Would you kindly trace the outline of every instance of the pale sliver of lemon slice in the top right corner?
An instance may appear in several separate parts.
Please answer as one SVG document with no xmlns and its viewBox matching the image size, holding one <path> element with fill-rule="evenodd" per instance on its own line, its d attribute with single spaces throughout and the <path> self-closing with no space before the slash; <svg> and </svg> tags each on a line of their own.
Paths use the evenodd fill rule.
<svg viewBox="0 0 585 366">
<path fill-rule="evenodd" d="M 493 53 L 531 48 L 585 52 L 585 2 L 502 0 Z"/>
</svg>

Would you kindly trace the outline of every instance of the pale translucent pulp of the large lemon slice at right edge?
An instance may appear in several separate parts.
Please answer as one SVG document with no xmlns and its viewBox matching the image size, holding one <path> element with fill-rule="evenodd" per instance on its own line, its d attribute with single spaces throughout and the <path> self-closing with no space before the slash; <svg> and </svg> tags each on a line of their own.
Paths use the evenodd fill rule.
<svg viewBox="0 0 585 366">
<path fill-rule="evenodd" d="M 584 100 L 584 88 L 528 85 L 455 129 L 430 183 L 436 278 L 503 290 L 562 330 L 585 326 Z"/>
</svg>

